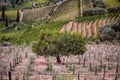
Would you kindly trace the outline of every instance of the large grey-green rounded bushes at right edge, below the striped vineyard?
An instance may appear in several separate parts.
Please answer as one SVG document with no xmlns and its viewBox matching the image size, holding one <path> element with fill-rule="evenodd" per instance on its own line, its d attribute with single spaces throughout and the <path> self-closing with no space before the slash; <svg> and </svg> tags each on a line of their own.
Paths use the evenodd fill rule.
<svg viewBox="0 0 120 80">
<path fill-rule="evenodd" d="M 118 22 L 108 23 L 99 27 L 99 38 L 101 40 L 120 39 L 120 24 Z"/>
</svg>

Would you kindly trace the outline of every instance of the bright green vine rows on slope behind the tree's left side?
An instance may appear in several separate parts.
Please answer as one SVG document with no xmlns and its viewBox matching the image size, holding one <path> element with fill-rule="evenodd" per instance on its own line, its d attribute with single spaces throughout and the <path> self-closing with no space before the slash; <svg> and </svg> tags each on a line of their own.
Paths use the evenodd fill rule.
<svg viewBox="0 0 120 80">
<path fill-rule="evenodd" d="M 40 32 L 41 31 L 59 31 L 61 27 L 66 23 L 66 21 L 60 21 L 60 22 L 52 22 L 49 24 L 39 25 L 36 27 L 28 27 L 24 31 L 22 31 L 22 34 L 17 36 L 12 43 L 14 44 L 23 44 L 26 43 L 27 45 L 31 44 L 32 41 L 36 41 L 39 39 Z"/>
</svg>

